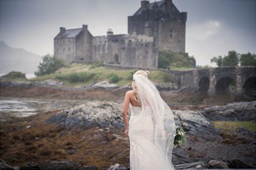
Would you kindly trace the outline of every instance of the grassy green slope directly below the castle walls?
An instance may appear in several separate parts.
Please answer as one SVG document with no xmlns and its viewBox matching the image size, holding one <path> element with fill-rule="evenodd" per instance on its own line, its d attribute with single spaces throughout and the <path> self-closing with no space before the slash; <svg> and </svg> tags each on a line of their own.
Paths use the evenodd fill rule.
<svg viewBox="0 0 256 170">
<path fill-rule="evenodd" d="M 55 73 L 39 76 L 31 81 L 53 79 L 62 81 L 64 86 L 89 85 L 103 80 L 110 80 L 119 86 L 131 85 L 132 75 L 138 69 L 109 69 L 102 64 L 78 64 L 64 67 Z M 160 70 L 150 70 L 149 78 L 154 83 L 173 81 L 173 76 Z"/>
</svg>

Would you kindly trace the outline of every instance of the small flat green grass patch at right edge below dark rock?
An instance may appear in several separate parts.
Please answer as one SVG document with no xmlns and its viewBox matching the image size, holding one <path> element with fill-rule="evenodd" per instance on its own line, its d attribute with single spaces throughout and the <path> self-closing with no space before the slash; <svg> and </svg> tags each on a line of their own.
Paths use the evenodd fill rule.
<svg viewBox="0 0 256 170">
<path fill-rule="evenodd" d="M 233 130 L 245 127 L 247 130 L 256 132 L 256 121 L 213 121 L 213 125 L 220 130 Z"/>
</svg>

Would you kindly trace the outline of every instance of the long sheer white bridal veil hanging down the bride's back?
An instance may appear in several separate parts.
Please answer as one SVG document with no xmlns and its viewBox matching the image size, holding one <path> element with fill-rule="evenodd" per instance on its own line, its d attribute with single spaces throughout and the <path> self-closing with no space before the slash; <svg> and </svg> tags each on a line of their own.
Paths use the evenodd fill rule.
<svg viewBox="0 0 256 170">
<path fill-rule="evenodd" d="M 166 169 L 175 169 L 172 164 L 173 141 L 176 134 L 176 125 L 171 108 L 160 97 L 160 93 L 153 82 L 142 74 L 134 74 L 133 80 L 136 84 L 136 90 L 139 95 L 142 111 L 139 113 L 141 123 L 145 129 L 152 133 L 140 133 L 140 139 L 150 139 L 154 149 L 158 153 L 161 167 Z M 144 123 L 145 118 L 150 118 L 151 123 Z M 148 126 L 148 127 L 145 127 Z M 156 160 L 157 161 L 157 160 Z M 160 167 L 159 167 L 160 168 Z M 164 168 L 164 169 L 165 169 Z"/>
</svg>

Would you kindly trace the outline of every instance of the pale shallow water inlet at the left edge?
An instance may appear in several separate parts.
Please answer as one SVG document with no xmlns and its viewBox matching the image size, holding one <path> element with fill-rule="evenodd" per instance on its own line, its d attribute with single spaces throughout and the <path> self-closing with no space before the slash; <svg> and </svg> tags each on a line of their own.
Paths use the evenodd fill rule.
<svg viewBox="0 0 256 170">
<path fill-rule="evenodd" d="M 39 112 L 63 110 L 83 103 L 86 103 L 86 101 L 0 97 L 0 121 L 3 122 L 12 118 L 24 118 Z"/>
</svg>

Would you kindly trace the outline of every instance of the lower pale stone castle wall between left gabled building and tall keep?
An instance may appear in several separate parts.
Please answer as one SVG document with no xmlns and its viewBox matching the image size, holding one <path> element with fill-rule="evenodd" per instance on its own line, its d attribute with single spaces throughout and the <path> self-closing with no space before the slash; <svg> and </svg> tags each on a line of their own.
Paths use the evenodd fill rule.
<svg viewBox="0 0 256 170">
<path fill-rule="evenodd" d="M 107 35 L 93 37 L 92 56 L 106 64 L 123 67 L 157 68 L 158 48 L 146 35 Z"/>
</svg>

